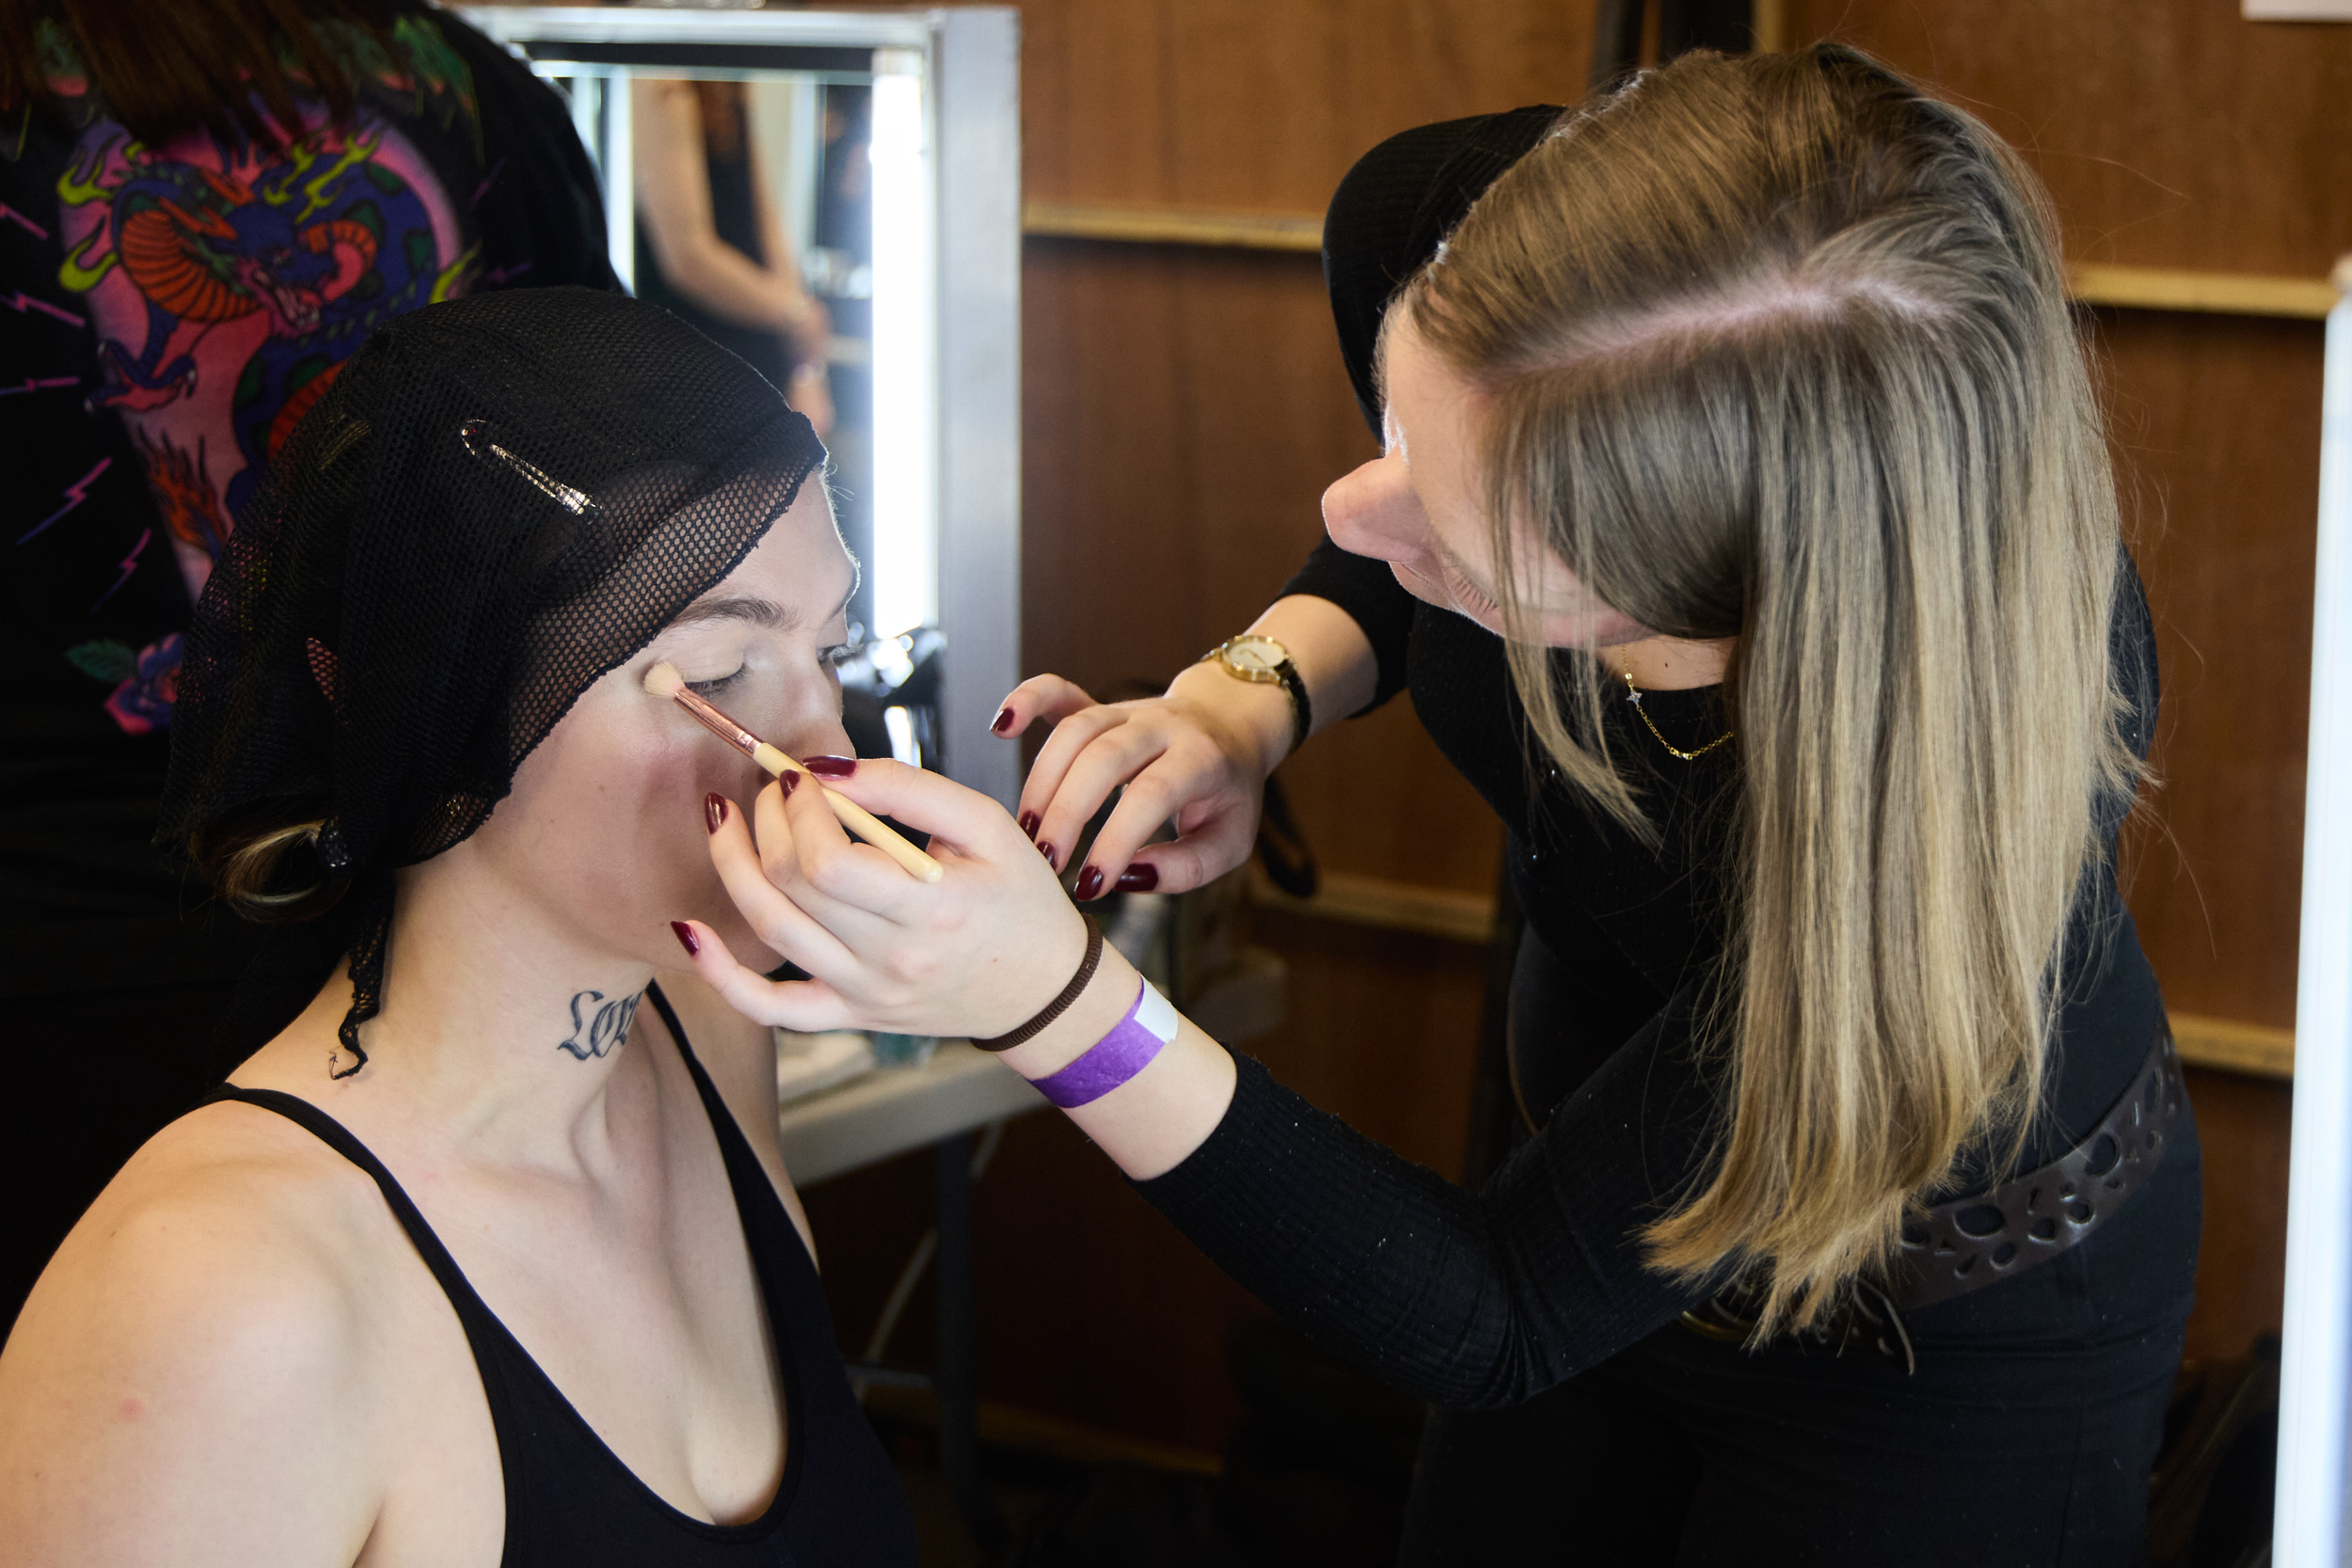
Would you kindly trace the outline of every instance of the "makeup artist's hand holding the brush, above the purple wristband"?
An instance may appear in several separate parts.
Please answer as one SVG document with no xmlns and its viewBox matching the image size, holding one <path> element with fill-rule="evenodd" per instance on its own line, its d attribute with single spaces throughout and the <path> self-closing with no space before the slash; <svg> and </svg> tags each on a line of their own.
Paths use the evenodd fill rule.
<svg viewBox="0 0 2352 1568">
<path fill-rule="evenodd" d="M 1084 922 L 985 795 L 880 757 L 826 780 L 875 816 L 931 832 L 946 875 L 924 884 L 842 832 L 814 776 L 783 783 L 760 790 L 750 823 L 729 806 L 710 860 L 760 940 L 811 978 L 767 980 L 710 926 L 682 922 L 696 973 L 746 1018 L 811 1034 L 988 1039 L 1030 1020 L 1077 973 Z"/>
</svg>

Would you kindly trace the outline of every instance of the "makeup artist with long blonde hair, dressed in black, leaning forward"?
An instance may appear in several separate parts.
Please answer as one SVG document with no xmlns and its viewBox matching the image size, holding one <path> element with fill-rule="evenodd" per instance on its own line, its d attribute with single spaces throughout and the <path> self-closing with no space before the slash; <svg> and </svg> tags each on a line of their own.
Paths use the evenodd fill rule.
<svg viewBox="0 0 2352 1568">
<path fill-rule="evenodd" d="M 828 780 L 936 830 L 938 886 L 818 790 L 729 813 L 729 891 L 814 980 L 691 929 L 703 978 L 1004 1048 L 1428 1396 L 1409 1563 L 2138 1561 L 2199 1154 L 2114 886 L 2154 651 L 2039 183 L 1849 49 L 1691 54 L 1383 143 L 1324 268 L 1383 456 L 1249 637 L 1157 701 L 1014 691 L 1000 733 L 1054 724 L 1018 825 Z M 1526 907 L 1541 1131 L 1482 1192 L 1207 1039 L 1049 872 L 1197 886 L 1399 689 Z"/>
</svg>

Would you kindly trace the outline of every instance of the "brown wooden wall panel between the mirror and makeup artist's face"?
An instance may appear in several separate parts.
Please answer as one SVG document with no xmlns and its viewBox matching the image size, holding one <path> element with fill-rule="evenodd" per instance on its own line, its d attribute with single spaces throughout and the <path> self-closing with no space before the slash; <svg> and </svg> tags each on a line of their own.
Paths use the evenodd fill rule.
<svg viewBox="0 0 2352 1568">
<path fill-rule="evenodd" d="M 1023 268 L 1023 665 L 1160 691 L 1322 538 L 1376 456 L 1312 256 L 1033 242 Z M 1489 889 L 1498 827 L 1406 701 L 1282 773 L 1324 863 Z"/>
</svg>

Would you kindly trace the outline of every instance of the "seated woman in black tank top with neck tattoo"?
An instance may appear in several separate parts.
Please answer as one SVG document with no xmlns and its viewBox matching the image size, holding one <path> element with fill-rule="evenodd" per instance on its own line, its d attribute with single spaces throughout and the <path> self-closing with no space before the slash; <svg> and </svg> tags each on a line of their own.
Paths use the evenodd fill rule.
<svg viewBox="0 0 2352 1568">
<path fill-rule="evenodd" d="M 249 1056 L 0 1354 L 12 1561 L 915 1561 L 767 1030 L 668 931 L 762 952 L 673 809 L 750 764 L 640 686 L 842 748 L 823 456 L 588 289 L 405 317 L 303 421 L 198 609 L 165 804 L 280 922 Z"/>
</svg>

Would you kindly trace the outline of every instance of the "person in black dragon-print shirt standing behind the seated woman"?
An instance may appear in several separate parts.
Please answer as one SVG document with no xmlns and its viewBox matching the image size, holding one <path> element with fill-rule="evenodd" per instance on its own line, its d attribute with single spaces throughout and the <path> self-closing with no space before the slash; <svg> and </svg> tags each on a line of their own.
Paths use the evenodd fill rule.
<svg viewBox="0 0 2352 1568">
<path fill-rule="evenodd" d="M 238 508 L 390 317 L 619 287 L 562 99 L 416 0 L 0 0 L 0 1328 L 228 1063 L 249 929 L 151 846 Z"/>
</svg>

